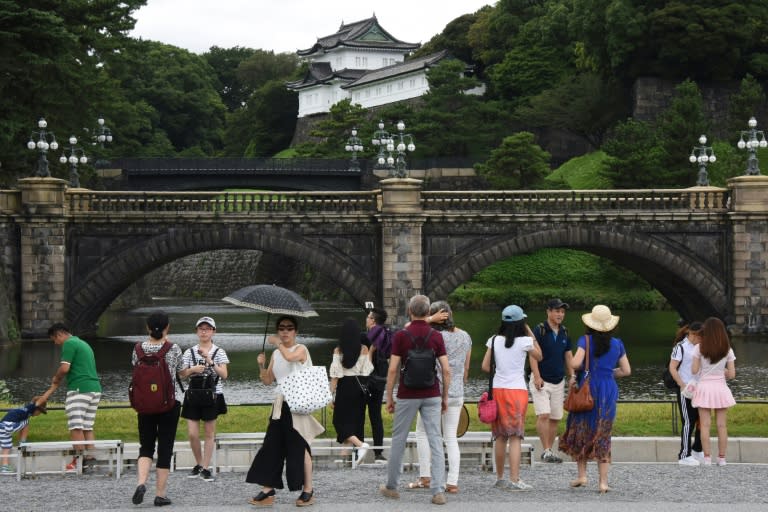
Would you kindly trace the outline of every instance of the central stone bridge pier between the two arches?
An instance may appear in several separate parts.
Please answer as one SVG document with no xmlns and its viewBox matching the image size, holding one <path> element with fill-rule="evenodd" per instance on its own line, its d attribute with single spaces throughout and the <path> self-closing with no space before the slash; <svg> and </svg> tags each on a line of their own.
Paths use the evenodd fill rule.
<svg viewBox="0 0 768 512">
<path fill-rule="evenodd" d="M 408 322 L 408 300 L 422 293 L 421 180 L 389 178 L 380 182 L 382 204 L 381 277 L 382 301 L 392 324 Z"/>
</svg>

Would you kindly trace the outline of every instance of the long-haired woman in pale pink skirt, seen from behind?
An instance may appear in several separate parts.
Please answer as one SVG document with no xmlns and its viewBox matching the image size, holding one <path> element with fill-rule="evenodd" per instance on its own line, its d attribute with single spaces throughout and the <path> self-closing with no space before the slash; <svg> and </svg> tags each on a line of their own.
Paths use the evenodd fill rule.
<svg viewBox="0 0 768 512">
<path fill-rule="evenodd" d="M 711 410 L 714 409 L 717 421 L 717 465 L 725 466 L 728 408 L 736 405 L 725 379 L 736 377 L 736 356 L 728 340 L 725 325 L 718 318 L 706 319 L 701 328 L 700 339 L 701 342 L 693 349 L 691 372 L 699 379 L 692 403 L 699 409 L 701 445 L 704 450 L 703 465 L 712 464 L 709 428 L 712 424 Z"/>
</svg>

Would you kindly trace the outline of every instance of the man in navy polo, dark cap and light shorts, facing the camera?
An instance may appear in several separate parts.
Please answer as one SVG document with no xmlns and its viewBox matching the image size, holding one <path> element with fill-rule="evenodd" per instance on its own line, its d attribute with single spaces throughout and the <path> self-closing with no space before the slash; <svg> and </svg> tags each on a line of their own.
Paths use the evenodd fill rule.
<svg viewBox="0 0 768 512">
<path fill-rule="evenodd" d="M 536 431 L 541 441 L 541 460 L 563 462 L 553 445 L 557 437 L 557 426 L 563 418 L 565 398 L 565 375 L 573 376 L 570 362 L 571 340 L 563 327 L 568 304 L 560 299 L 547 303 L 547 320 L 533 328 L 533 334 L 541 347 L 542 359 L 528 358 L 531 366 L 530 390 L 533 409 L 536 412 Z"/>
</svg>

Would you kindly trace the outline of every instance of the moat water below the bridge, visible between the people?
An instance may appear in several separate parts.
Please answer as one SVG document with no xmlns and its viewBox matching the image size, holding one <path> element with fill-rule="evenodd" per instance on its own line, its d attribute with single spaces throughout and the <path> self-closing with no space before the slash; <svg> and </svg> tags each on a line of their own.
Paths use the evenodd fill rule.
<svg viewBox="0 0 768 512">
<path fill-rule="evenodd" d="M 343 320 L 353 316 L 363 325 L 364 313 L 358 309 L 314 304 L 319 317 L 300 319 L 298 339 L 306 344 L 315 364 L 329 365 L 336 335 Z M 151 307 L 128 312 L 108 312 L 101 318 L 100 337 L 88 340 L 94 348 L 102 378 L 105 399 L 126 401 L 130 380 L 130 353 L 133 344 L 146 339 L 144 321 L 152 312 L 162 309 L 171 318 L 171 339 L 187 348 L 197 342 L 195 320 L 213 316 L 219 327 L 214 340 L 224 347 L 232 361 L 225 396 L 230 403 L 253 403 L 271 400 L 273 387 L 259 382 L 256 355 L 261 350 L 265 327 L 274 330 L 266 314 L 232 306 L 224 302 L 181 302 L 157 300 Z M 566 325 L 572 337 L 581 333 L 579 311 L 569 311 Z M 528 311 L 532 324 L 544 320 L 544 313 Z M 661 369 L 668 361 L 671 336 L 677 315 L 673 312 L 633 312 L 621 314 L 619 336 L 625 343 L 632 363 L 632 376 L 621 379 L 622 399 L 665 399 L 669 395 L 661 385 Z M 496 311 L 456 311 L 457 325 L 472 336 L 473 351 L 467 398 L 476 400 L 487 385 L 480 370 L 484 343 L 499 325 Z M 729 382 L 738 399 L 766 399 L 768 396 L 768 340 L 734 339 L 737 378 Z M 48 340 L 27 341 L 20 346 L 0 348 L 0 375 L 8 382 L 14 399 L 23 401 L 40 393 L 50 383 L 59 363 L 61 350 Z M 54 400 L 62 400 L 57 391 Z"/>
</svg>

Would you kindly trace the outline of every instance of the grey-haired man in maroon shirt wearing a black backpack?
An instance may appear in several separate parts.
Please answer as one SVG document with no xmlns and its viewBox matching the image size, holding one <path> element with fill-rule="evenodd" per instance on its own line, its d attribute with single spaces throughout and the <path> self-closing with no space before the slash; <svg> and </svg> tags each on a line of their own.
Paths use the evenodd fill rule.
<svg viewBox="0 0 768 512">
<path fill-rule="evenodd" d="M 379 491 L 387 498 L 398 499 L 397 485 L 405 452 L 405 443 L 417 413 L 421 414 L 431 452 L 432 503 L 445 504 L 445 455 L 440 433 L 440 416 L 448 409 L 448 386 L 451 372 L 445 342 L 439 331 L 426 322 L 429 315 L 429 298 L 415 295 L 408 303 L 411 322 L 397 331 L 392 343 L 392 354 L 387 373 L 387 410 L 394 413 L 392 422 L 392 448 L 387 464 L 387 483 Z M 437 379 L 436 365 L 442 372 L 442 389 Z M 393 398 L 395 379 L 400 378 L 397 388 L 397 406 Z"/>
</svg>

